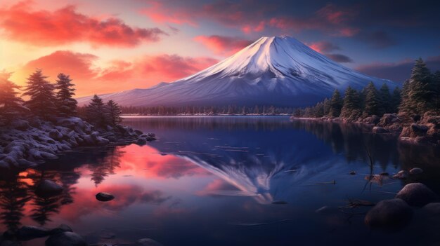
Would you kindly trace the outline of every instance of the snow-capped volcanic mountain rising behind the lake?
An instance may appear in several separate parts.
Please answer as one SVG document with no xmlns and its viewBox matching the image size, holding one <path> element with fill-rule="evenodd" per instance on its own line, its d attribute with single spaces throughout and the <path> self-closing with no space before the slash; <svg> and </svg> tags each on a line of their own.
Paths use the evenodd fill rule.
<svg viewBox="0 0 440 246">
<path fill-rule="evenodd" d="M 330 97 L 335 88 L 362 88 L 392 81 L 374 78 L 330 60 L 289 36 L 262 37 L 235 55 L 187 78 L 148 89 L 101 95 L 124 106 L 304 106 Z M 85 104 L 90 97 L 82 97 Z"/>
</svg>

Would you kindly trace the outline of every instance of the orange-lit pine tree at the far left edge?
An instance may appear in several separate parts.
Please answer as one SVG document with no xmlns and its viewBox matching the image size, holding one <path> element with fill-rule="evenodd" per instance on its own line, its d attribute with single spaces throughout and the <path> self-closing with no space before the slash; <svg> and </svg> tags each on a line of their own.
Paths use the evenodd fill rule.
<svg viewBox="0 0 440 246">
<path fill-rule="evenodd" d="M 0 74 L 0 123 L 11 123 L 15 118 L 20 116 L 20 113 L 26 108 L 22 106 L 23 100 L 18 97 L 16 90 L 20 86 L 9 81 L 11 74 Z"/>
</svg>

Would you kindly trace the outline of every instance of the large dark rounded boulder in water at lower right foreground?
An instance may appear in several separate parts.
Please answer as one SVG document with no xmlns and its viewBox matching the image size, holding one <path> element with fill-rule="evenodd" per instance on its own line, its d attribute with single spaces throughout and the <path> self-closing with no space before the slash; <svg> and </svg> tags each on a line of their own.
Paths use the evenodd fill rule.
<svg viewBox="0 0 440 246">
<path fill-rule="evenodd" d="M 413 217 L 413 210 L 399 198 L 382 200 L 365 216 L 365 224 L 371 228 L 396 230 L 406 226 Z"/>
</svg>

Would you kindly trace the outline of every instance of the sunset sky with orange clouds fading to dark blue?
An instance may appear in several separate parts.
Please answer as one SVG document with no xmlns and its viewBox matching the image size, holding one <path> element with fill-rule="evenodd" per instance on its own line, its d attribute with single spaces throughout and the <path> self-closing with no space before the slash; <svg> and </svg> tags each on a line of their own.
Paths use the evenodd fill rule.
<svg viewBox="0 0 440 246">
<path fill-rule="evenodd" d="M 148 88 L 205 69 L 261 36 L 293 36 L 371 76 L 440 69 L 440 1 L 2 0 L 0 71 L 69 74 L 77 96 Z"/>
</svg>

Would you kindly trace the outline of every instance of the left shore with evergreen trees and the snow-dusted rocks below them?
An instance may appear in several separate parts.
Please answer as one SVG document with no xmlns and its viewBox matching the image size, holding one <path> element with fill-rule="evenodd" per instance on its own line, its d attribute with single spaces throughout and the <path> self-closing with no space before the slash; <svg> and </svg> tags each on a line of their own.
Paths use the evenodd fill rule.
<svg viewBox="0 0 440 246">
<path fill-rule="evenodd" d="M 84 111 L 77 111 L 75 86 L 68 75 L 59 74 L 50 83 L 37 69 L 27 78 L 25 101 L 19 86 L 0 74 L 0 170 L 25 169 L 78 146 L 139 145 L 155 140 L 120 125 L 119 105 L 106 104 L 95 95 Z"/>
</svg>

